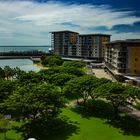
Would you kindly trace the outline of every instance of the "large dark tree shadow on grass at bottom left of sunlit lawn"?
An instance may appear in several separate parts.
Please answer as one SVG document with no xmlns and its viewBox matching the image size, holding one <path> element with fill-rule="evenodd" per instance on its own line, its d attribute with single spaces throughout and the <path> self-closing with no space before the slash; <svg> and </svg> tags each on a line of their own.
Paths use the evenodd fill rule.
<svg viewBox="0 0 140 140">
<path fill-rule="evenodd" d="M 23 140 L 36 138 L 37 140 L 65 140 L 79 132 L 77 122 L 71 122 L 68 118 L 57 118 L 50 121 L 28 122 L 20 127 L 13 127 L 20 132 Z"/>
</svg>

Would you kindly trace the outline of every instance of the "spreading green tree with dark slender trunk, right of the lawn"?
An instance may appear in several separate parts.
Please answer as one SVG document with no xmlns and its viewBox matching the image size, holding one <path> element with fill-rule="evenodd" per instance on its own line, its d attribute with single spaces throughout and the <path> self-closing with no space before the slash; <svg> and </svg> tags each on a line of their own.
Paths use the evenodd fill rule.
<svg viewBox="0 0 140 140">
<path fill-rule="evenodd" d="M 130 94 L 125 92 L 125 90 L 125 86 L 114 82 L 103 84 L 96 89 L 96 94 L 112 104 L 116 119 L 118 119 L 119 106 L 129 104 Z"/>
</svg>

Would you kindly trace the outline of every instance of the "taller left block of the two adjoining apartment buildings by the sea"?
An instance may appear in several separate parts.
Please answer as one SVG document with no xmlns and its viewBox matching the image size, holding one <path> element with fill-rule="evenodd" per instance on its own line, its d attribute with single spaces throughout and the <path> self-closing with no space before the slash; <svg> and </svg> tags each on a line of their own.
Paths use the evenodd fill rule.
<svg viewBox="0 0 140 140">
<path fill-rule="evenodd" d="M 51 32 L 51 43 L 54 54 L 60 56 L 76 56 L 79 34 L 72 31 Z"/>
</svg>

